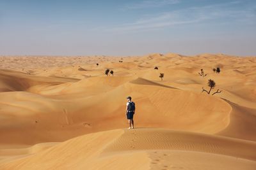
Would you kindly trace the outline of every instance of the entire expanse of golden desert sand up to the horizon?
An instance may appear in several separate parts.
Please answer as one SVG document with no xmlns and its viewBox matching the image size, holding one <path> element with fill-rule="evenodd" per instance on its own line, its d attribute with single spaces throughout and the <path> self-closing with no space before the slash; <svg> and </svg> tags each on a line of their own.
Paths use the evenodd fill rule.
<svg viewBox="0 0 256 170">
<path fill-rule="evenodd" d="M 256 169 L 256 57 L 0 61 L 0 169 Z M 202 92 L 209 79 L 211 94 L 221 93 Z M 127 129 L 127 96 L 135 129 Z"/>
</svg>

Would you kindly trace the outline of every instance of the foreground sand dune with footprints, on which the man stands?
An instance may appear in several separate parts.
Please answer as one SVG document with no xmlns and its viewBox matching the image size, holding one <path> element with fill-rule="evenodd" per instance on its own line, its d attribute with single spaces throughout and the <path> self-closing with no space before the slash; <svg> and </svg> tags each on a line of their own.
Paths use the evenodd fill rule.
<svg viewBox="0 0 256 170">
<path fill-rule="evenodd" d="M 0 167 L 207 169 L 212 166 L 211 169 L 253 169 L 256 166 L 255 149 L 256 143 L 239 139 L 164 129 L 120 129 L 69 139 L 34 154 L 24 154 L 24 158 L 6 161 Z M 134 163 L 126 165 L 127 159 Z M 224 166 L 216 165 L 216 161 L 223 162 Z M 190 166 L 191 162 L 193 166 Z"/>
</svg>

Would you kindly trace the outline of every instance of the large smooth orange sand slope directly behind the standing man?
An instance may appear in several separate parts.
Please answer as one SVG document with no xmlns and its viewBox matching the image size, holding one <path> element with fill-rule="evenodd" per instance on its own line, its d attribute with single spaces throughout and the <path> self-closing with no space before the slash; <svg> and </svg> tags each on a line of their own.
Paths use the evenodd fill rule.
<svg viewBox="0 0 256 170">
<path fill-rule="evenodd" d="M 90 79 L 97 85 L 90 85 Z M 71 85 L 54 85 L 55 89 L 40 90 L 39 94 L 3 92 L 0 94 L 0 104 L 3 106 L 2 117 L 6 121 L 0 127 L 19 128 L 12 131 L 0 129 L 1 135 L 4 136 L 2 142 L 19 141 L 23 144 L 33 144 L 61 141 L 84 132 L 124 127 L 125 101 L 122 99 L 125 99 L 127 94 L 131 94 L 138 105 L 136 123 L 140 127 L 168 127 L 214 133 L 225 129 L 229 123 L 232 109 L 217 97 L 172 89 L 142 78 L 129 81 L 130 79 L 88 78 Z M 97 83 L 99 81 L 100 83 Z M 70 94 L 72 88 L 79 92 L 74 90 L 75 92 Z M 60 95 L 41 95 L 49 94 L 52 90 Z M 24 138 L 24 135 L 33 136 L 33 140 Z"/>
</svg>

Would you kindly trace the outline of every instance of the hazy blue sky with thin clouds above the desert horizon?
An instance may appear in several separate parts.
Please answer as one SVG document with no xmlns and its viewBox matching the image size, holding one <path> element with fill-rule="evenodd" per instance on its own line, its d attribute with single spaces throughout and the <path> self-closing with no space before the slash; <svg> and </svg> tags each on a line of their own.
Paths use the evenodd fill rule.
<svg viewBox="0 0 256 170">
<path fill-rule="evenodd" d="M 255 0 L 0 0 L 0 55 L 256 56 Z"/>
</svg>

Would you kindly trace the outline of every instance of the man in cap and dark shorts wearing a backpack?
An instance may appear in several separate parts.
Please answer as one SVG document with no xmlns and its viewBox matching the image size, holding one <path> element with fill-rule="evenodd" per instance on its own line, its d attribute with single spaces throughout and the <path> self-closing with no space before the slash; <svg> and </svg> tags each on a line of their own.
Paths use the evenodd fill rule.
<svg viewBox="0 0 256 170">
<path fill-rule="evenodd" d="M 134 122 L 133 122 L 133 115 L 135 113 L 135 103 L 132 100 L 132 97 L 126 97 L 127 103 L 126 103 L 126 111 L 125 115 L 127 116 L 128 119 L 128 124 L 129 128 L 128 129 L 133 129 L 134 128 Z"/>
</svg>

